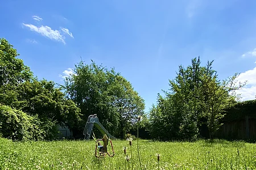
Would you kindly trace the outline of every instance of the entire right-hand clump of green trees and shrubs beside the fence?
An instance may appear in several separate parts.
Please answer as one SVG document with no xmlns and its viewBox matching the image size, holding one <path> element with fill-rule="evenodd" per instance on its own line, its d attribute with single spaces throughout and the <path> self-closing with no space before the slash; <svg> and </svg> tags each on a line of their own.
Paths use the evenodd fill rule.
<svg viewBox="0 0 256 170">
<path fill-rule="evenodd" d="M 150 112 L 152 137 L 162 137 L 154 129 L 161 122 L 164 125 L 159 129 L 171 129 L 162 131 L 166 134 L 162 139 L 196 139 L 202 124 L 208 126 L 210 138 L 213 137 L 221 126 L 223 109 L 237 99 L 232 92 L 244 84 L 234 82 L 238 74 L 221 82 L 212 63 L 200 66 L 200 58 L 193 58 L 187 68 L 179 66 L 176 78 L 170 80 L 170 91 L 165 98 L 158 97 L 156 108 Z"/>
</svg>

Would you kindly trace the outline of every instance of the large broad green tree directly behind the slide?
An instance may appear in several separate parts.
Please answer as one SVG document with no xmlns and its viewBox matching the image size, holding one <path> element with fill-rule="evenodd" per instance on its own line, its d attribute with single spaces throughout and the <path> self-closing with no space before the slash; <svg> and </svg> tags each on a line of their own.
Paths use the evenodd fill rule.
<svg viewBox="0 0 256 170">
<path fill-rule="evenodd" d="M 80 131 L 88 116 L 97 114 L 110 133 L 124 137 L 135 118 L 143 114 L 144 100 L 114 69 L 108 70 L 94 62 L 86 65 L 81 61 L 74 71 L 75 74 L 65 80 L 65 89 L 84 115 Z"/>
</svg>

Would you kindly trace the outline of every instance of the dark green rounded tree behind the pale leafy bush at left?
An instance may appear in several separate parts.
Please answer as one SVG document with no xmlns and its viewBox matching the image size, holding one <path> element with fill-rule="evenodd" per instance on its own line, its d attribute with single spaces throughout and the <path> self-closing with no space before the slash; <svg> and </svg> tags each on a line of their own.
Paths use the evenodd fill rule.
<svg viewBox="0 0 256 170">
<path fill-rule="evenodd" d="M 11 105 L 30 116 L 38 116 L 41 121 L 53 121 L 73 129 L 80 119 L 80 109 L 72 100 L 66 99 L 61 88 L 52 81 L 31 80 L 16 88 L 17 101 Z"/>
</svg>

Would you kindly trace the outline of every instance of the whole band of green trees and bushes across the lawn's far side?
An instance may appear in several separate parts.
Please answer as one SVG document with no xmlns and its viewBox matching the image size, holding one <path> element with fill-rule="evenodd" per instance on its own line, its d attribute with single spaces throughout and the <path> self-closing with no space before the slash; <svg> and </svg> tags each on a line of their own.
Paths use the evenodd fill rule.
<svg viewBox="0 0 256 170">
<path fill-rule="evenodd" d="M 226 120 L 234 119 L 230 112 L 236 111 L 239 117 L 255 106 L 254 101 L 246 107 L 237 102 L 233 92 L 245 85 L 236 82 L 239 74 L 220 80 L 213 61 L 201 66 L 200 57 L 187 67 L 179 66 L 176 77 L 169 80 L 170 89 L 163 96 L 158 94 L 146 114 L 142 97 L 114 68 L 81 61 L 60 86 L 38 80 L 18 56 L 13 45 L 0 39 L 0 136 L 13 140 L 54 139 L 57 125 L 82 137 L 90 114 L 97 114 L 119 138 L 139 127 L 149 130 L 154 139 L 193 140 L 203 137 L 207 127 L 212 139 L 226 113 Z M 139 124 L 138 116 L 143 117 Z"/>
</svg>

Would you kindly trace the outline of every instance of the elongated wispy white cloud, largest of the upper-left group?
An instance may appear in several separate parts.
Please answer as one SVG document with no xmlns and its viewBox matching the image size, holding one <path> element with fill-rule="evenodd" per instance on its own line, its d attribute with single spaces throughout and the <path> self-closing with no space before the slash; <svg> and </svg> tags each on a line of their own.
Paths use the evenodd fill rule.
<svg viewBox="0 0 256 170">
<path fill-rule="evenodd" d="M 63 42 L 63 44 L 66 44 L 64 39 L 65 37 L 61 35 L 60 31 L 53 30 L 51 27 L 42 25 L 41 27 L 36 27 L 36 25 L 33 24 L 24 24 L 25 27 L 30 28 L 31 31 L 35 31 L 37 33 L 40 33 L 42 36 L 48 37 L 51 40 L 56 40 Z"/>
</svg>

